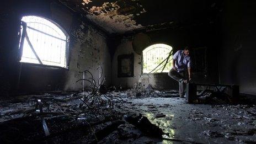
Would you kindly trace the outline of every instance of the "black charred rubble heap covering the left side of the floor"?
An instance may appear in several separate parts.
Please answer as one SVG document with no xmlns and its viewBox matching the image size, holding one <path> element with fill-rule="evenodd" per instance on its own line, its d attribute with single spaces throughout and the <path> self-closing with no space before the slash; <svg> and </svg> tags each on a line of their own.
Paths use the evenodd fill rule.
<svg viewBox="0 0 256 144">
<path fill-rule="evenodd" d="M 85 106 L 83 95 L 89 92 L 24 95 L 0 102 L 0 143 L 132 142 L 147 134 L 143 132 L 145 124 L 150 125 L 145 128 L 152 127 L 141 115 L 141 124 L 132 123 L 131 117 L 126 117 L 126 121 L 124 115 L 130 111 L 123 111 L 119 100 L 114 102 L 114 107 L 102 102 L 105 105 L 94 111 Z M 124 103 L 129 102 L 124 100 Z M 134 129 L 129 122 L 142 130 Z M 157 126 L 154 130 L 162 134 Z"/>
</svg>

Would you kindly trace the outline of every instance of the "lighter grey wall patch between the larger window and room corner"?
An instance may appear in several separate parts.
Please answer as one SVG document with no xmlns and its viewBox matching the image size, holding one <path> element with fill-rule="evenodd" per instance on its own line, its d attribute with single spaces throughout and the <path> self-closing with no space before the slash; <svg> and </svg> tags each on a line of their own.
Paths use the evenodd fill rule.
<svg viewBox="0 0 256 144">
<path fill-rule="evenodd" d="M 95 81 L 98 82 L 98 66 L 103 68 L 103 78 L 106 77 L 106 85 L 111 83 L 111 57 L 106 46 L 105 36 L 89 28 L 87 33 L 82 35 L 82 41 L 76 41 L 70 51 L 70 70 L 66 74 L 65 90 L 81 89 L 82 72 L 92 72 Z M 88 87 L 88 84 L 86 86 Z"/>
</svg>

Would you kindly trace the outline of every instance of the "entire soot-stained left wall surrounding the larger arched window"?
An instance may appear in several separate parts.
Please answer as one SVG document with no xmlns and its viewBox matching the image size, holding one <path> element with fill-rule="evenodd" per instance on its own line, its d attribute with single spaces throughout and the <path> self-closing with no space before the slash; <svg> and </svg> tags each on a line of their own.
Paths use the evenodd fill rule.
<svg viewBox="0 0 256 144">
<path fill-rule="evenodd" d="M 1 17 L 1 94 L 42 92 L 49 90 L 79 90 L 79 72 L 89 70 L 98 78 L 96 68 L 103 67 L 107 84 L 111 83 L 111 58 L 105 34 L 89 25 L 81 14 L 72 12 L 57 1 L 6 2 Z M 70 36 L 68 69 L 43 67 L 17 61 L 18 31 L 24 15 L 38 15 L 54 20 Z M 20 73 L 20 78 L 19 78 Z M 88 87 L 88 84 L 86 84 Z"/>
</svg>

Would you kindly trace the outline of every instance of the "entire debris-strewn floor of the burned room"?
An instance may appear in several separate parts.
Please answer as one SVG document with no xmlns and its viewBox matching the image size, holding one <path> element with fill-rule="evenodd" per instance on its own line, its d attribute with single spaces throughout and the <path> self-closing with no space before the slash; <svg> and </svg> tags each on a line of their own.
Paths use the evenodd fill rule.
<svg viewBox="0 0 256 144">
<path fill-rule="evenodd" d="M 92 92 L 2 100 L 0 143 L 256 142 L 256 105 L 188 104 L 158 95 L 169 94 L 166 90 L 154 90 L 158 94 L 148 97 L 131 97 L 128 92 L 109 91 L 113 98 L 122 98 L 113 103 L 100 95 L 97 109 L 84 103 L 84 95 Z"/>
</svg>

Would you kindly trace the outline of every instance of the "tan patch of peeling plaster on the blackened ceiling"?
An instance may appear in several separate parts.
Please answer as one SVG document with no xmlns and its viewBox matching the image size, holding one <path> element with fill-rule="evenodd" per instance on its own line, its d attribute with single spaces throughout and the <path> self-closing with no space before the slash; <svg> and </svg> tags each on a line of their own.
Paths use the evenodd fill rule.
<svg viewBox="0 0 256 144">
<path fill-rule="evenodd" d="M 145 13 L 143 7 L 135 3 L 135 6 L 125 4 L 124 1 L 105 2 L 102 6 L 93 6 L 88 10 L 86 17 L 92 22 L 102 26 L 109 33 L 125 33 L 134 29 L 142 28 L 134 20 L 135 14 Z M 123 5 L 124 7 L 121 7 Z M 138 11 L 139 9 L 139 11 Z"/>
</svg>

